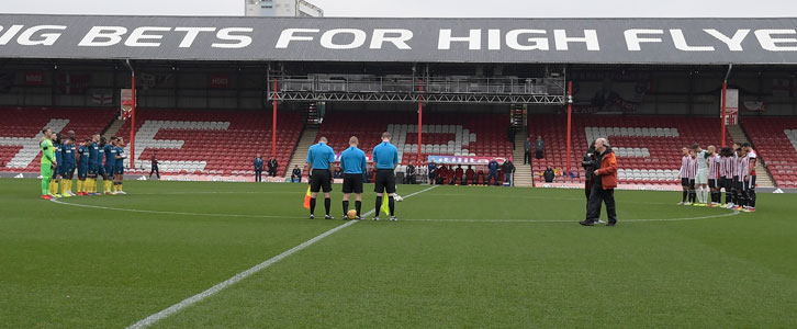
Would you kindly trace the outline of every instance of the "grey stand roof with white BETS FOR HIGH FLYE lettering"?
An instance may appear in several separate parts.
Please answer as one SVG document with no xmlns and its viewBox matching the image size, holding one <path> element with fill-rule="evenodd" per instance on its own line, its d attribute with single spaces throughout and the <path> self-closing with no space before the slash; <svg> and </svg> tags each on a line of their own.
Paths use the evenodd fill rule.
<svg viewBox="0 0 797 329">
<path fill-rule="evenodd" d="M 795 26 L 796 18 L 316 19 L 0 14 L 0 58 L 794 65 L 797 64 Z"/>
</svg>

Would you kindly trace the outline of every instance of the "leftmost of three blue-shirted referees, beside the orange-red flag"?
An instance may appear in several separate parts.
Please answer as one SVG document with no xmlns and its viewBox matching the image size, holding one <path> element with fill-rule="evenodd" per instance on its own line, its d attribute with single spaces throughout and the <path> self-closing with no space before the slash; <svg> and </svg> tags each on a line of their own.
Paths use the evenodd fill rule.
<svg viewBox="0 0 797 329">
<path fill-rule="evenodd" d="M 332 200 L 329 198 L 332 171 L 329 164 L 335 162 L 335 151 L 326 144 L 326 137 L 321 137 L 318 144 L 311 146 L 307 150 L 307 164 L 310 166 L 307 172 L 311 172 L 310 219 L 315 218 L 315 197 L 318 196 L 319 190 L 324 190 L 324 207 L 326 208 L 324 218 L 333 219 L 333 216 L 329 216 L 329 207 L 332 206 Z"/>
</svg>

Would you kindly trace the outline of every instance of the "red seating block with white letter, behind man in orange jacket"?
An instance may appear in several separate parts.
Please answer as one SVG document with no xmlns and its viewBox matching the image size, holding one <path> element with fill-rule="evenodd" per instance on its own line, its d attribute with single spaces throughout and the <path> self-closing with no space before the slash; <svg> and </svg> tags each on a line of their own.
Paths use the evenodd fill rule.
<svg viewBox="0 0 797 329">
<path fill-rule="evenodd" d="M 532 161 L 535 181 L 542 183 L 546 168 L 563 171 L 566 167 L 566 117 L 534 115 L 531 136 L 542 136 L 546 158 Z M 571 169 L 574 177 L 558 177 L 558 182 L 583 183 L 581 160 L 590 143 L 606 137 L 617 152 L 618 179 L 626 184 L 676 184 L 681 167 L 681 148 L 694 143 L 703 147 L 719 145 L 719 118 L 574 115 L 572 126 Z M 728 135 L 728 140 L 730 135 Z"/>
</svg>

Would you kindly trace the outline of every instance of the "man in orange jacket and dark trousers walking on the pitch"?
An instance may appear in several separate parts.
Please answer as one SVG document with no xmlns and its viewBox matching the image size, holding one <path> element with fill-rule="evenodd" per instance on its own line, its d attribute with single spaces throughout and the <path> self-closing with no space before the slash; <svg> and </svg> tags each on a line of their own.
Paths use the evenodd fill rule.
<svg viewBox="0 0 797 329">
<path fill-rule="evenodd" d="M 606 203 L 606 215 L 609 217 L 606 226 L 617 225 L 617 209 L 615 207 L 615 188 L 617 188 L 617 157 L 611 151 L 606 138 L 595 140 L 595 152 L 598 168 L 593 172 L 592 191 L 587 202 L 586 219 L 580 222 L 584 226 L 593 226 L 600 219 L 602 203 Z"/>
</svg>

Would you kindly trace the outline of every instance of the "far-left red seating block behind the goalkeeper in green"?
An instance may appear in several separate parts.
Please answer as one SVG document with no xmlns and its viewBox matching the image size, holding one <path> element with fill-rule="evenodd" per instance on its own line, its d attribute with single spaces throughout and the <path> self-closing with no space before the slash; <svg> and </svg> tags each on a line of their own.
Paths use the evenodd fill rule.
<svg viewBox="0 0 797 329">
<path fill-rule="evenodd" d="M 75 131 L 78 139 L 101 133 L 116 111 L 98 109 L 0 109 L 0 170 L 38 172 L 42 128 Z"/>
</svg>

